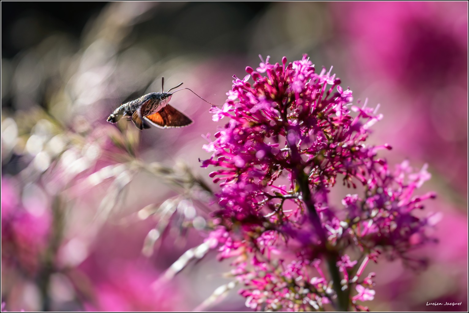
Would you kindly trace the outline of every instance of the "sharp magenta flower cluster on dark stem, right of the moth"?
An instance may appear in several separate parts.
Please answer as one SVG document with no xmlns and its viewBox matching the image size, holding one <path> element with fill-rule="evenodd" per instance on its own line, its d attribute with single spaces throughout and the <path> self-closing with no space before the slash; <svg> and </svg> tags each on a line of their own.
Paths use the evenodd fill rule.
<svg viewBox="0 0 469 313">
<path fill-rule="evenodd" d="M 262 59 L 262 58 L 261 58 Z M 218 225 L 207 241 L 219 258 L 234 258 L 246 306 L 256 310 L 365 310 L 372 277 L 363 275 L 379 254 L 412 261 L 407 252 L 431 239 L 435 217 L 414 211 L 428 193 L 414 190 L 430 178 L 407 162 L 393 171 L 368 146 L 377 109 L 351 105 L 352 92 L 308 56 L 246 68 L 213 120 L 227 124 L 206 136 L 212 157 L 203 167 L 219 183 Z M 251 81 L 252 79 L 252 81 Z M 342 182 L 356 193 L 330 204 Z M 353 260 L 352 260 L 353 259 Z"/>
</svg>

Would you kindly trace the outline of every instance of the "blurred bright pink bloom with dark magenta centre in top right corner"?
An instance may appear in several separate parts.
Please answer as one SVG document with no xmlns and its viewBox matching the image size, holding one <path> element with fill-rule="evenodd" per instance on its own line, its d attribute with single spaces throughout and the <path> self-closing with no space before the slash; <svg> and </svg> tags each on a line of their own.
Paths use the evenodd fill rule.
<svg viewBox="0 0 469 313">
<path fill-rule="evenodd" d="M 467 3 L 360 2 L 334 9 L 360 66 L 393 76 L 410 92 L 467 82 Z"/>
</svg>

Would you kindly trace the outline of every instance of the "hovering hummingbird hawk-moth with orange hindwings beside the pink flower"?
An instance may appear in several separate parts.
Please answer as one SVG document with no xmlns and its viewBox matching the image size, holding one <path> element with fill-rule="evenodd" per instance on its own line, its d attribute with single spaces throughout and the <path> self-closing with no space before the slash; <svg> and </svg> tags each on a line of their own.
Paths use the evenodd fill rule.
<svg viewBox="0 0 469 313">
<path fill-rule="evenodd" d="M 139 130 L 150 128 L 150 125 L 159 128 L 169 128 L 192 124 L 192 120 L 189 117 L 168 104 L 174 92 L 181 89 L 173 93 L 170 91 L 181 85 L 182 83 L 165 91 L 165 78 L 163 77 L 161 81 L 162 92 L 152 92 L 122 104 L 114 110 L 107 118 L 107 121 L 114 124 L 121 117 L 129 116 Z"/>
</svg>

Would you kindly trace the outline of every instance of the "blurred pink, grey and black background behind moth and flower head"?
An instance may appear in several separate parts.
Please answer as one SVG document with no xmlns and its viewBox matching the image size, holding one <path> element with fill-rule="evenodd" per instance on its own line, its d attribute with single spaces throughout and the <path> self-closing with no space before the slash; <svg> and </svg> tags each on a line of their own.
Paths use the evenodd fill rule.
<svg viewBox="0 0 469 313">
<path fill-rule="evenodd" d="M 187 167 L 205 179 L 201 134 L 217 129 L 210 106 L 187 91 L 174 95 L 174 107 L 195 121 L 175 130 L 139 133 L 125 121 L 107 124 L 106 117 L 122 102 L 159 91 L 161 76 L 166 87 L 184 81 L 222 104 L 231 76 L 256 68 L 259 54 L 280 62 L 307 53 L 316 68 L 334 66 L 355 101 L 380 103 L 384 119 L 374 125 L 371 142 L 393 146 L 383 155 L 393 164 L 428 163 L 432 179 L 424 191 L 439 195 L 425 210 L 441 212 L 439 244 L 417 252 L 429 257 L 428 269 L 378 263 L 370 268 L 377 272 L 376 297 L 367 305 L 465 311 L 467 9 L 467 2 L 2 2 L 1 294 L 7 309 L 192 310 L 226 284 L 220 273 L 229 266 L 214 253 L 160 283 L 159 275 L 204 238 L 189 232 L 182 241 L 167 231 L 150 257 L 142 255 L 161 218 L 141 220 L 136 212 L 179 191 L 133 171 L 129 159 L 137 155 L 176 172 Z M 116 140 L 127 150 L 116 149 Z M 132 175 L 113 172 L 113 165 Z M 85 188 L 89 177 L 99 179 Z M 96 223 L 103 198 L 114 192 L 108 178 L 123 184 L 125 194 L 116 187 L 119 210 Z M 186 218 L 194 219 L 188 208 Z M 208 309 L 245 307 L 231 291 Z"/>
</svg>

